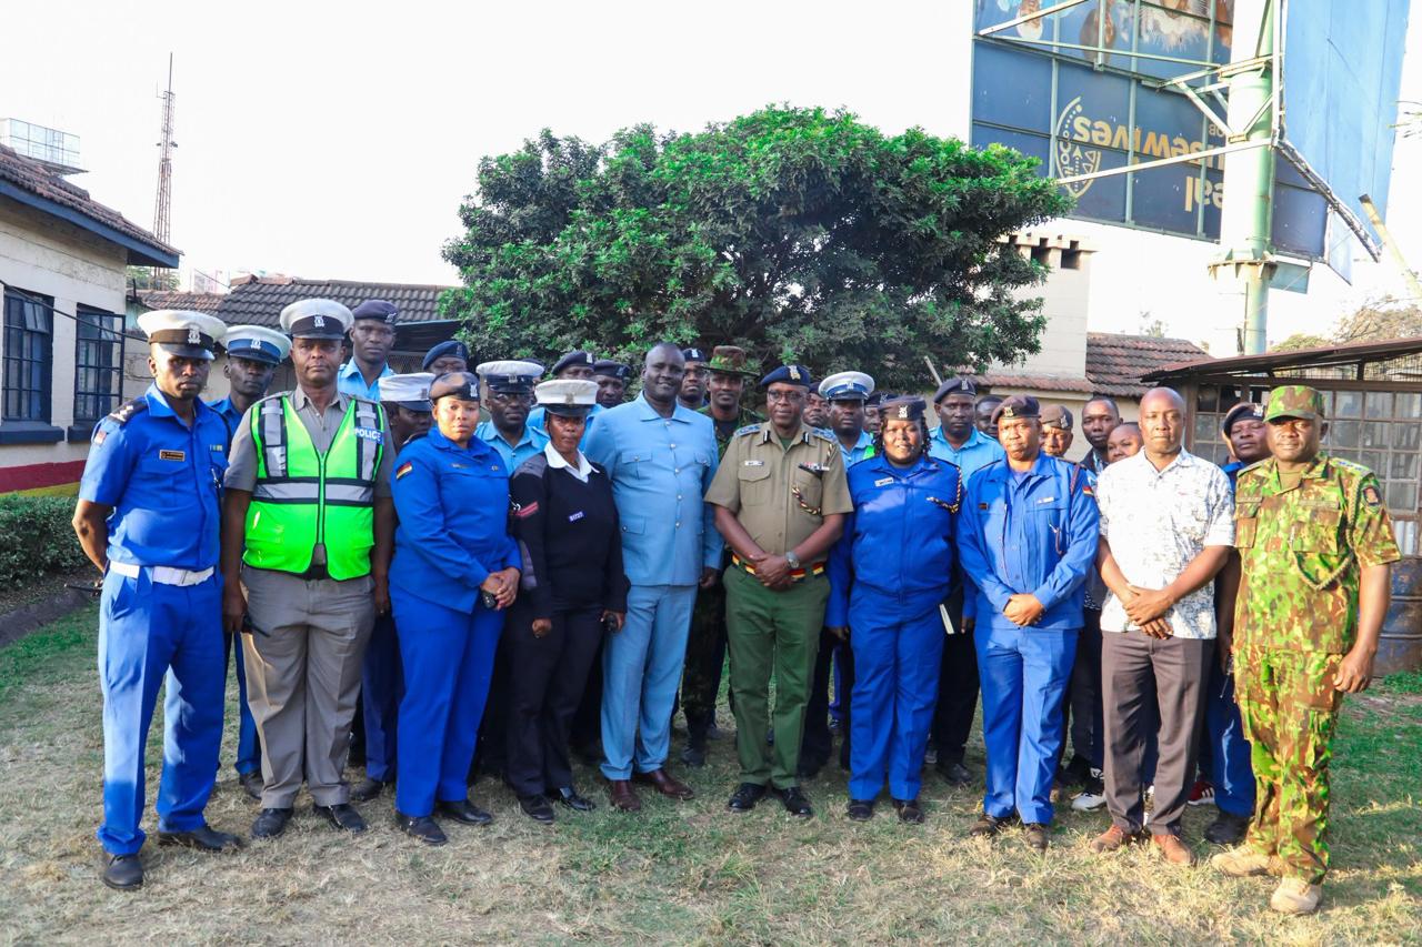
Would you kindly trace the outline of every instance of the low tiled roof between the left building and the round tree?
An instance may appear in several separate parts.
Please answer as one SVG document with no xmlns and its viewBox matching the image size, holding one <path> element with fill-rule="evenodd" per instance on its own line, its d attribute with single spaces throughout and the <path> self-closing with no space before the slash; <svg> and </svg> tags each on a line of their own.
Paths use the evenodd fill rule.
<svg viewBox="0 0 1422 947">
<path fill-rule="evenodd" d="M 400 323 L 438 321 L 439 294 L 447 286 L 411 283 L 358 283 L 351 280 L 303 280 L 294 276 L 239 276 L 232 291 L 222 296 L 218 317 L 229 326 L 277 326 L 282 310 L 301 299 L 331 299 L 356 309 L 368 299 L 383 299 L 400 307 Z"/>
</svg>

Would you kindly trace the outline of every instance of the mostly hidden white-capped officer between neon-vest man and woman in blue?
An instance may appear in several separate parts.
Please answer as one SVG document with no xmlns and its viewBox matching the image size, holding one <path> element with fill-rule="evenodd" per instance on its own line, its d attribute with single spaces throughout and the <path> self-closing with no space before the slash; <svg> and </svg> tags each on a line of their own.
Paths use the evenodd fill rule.
<svg viewBox="0 0 1422 947">
<path fill-rule="evenodd" d="M 385 375 L 380 380 L 381 407 L 390 419 L 390 435 L 397 452 L 412 438 L 429 431 L 431 411 L 434 411 L 429 404 L 429 385 L 434 380 L 428 371 Z M 365 778 L 351 786 L 351 799 L 367 802 L 395 781 L 395 721 L 405 692 L 395 616 L 388 611 L 375 617 L 375 627 L 365 646 L 360 684 L 360 715 L 365 731 Z"/>
</svg>

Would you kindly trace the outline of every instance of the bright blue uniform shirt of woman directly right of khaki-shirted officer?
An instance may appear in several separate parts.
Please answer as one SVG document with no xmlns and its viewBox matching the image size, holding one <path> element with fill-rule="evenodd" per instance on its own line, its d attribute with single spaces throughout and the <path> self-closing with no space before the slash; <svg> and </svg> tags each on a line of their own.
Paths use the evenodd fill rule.
<svg viewBox="0 0 1422 947">
<path fill-rule="evenodd" d="M 850 468 L 848 478 L 855 512 L 829 556 L 825 626 L 849 624 L 857 584 L 897 599 L 904 619 L 936 609 L 953 586 L 963 503 L 958 468 L 931 456 L 897 468 L 877 455 Z"/>
</svg>

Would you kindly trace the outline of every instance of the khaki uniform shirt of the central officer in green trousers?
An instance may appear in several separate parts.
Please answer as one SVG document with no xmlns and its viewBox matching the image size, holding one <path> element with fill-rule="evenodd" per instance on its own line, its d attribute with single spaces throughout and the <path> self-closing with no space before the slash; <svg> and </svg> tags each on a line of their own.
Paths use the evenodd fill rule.
<svg viewBox="0 0 1422 947">
<path fill-rule="evenodd" d="M 735 513 L 755 545 L 772 556 L 809 539 L 828 513 L 855 509 L 839 442 L 801 427 L 784 448 L 769 421 L 731 437 L 705 499 Z"/>
</svg>

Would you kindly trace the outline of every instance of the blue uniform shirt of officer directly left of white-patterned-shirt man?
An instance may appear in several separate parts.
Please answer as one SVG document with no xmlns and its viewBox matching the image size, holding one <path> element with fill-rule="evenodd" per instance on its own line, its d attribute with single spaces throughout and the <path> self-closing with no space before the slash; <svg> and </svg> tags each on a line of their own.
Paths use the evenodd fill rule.
<svg viewBox="0 0 1422 947">
<path fill-rule="evenodd" d="M 1095 488 L 1075 464 L 1039 454 L 1022 478 L 1005 459 L 970 476 L 958 559 L 977 589 L 978 624 L 1015 628 L 1003 609 L 1028 593 L 1044 606 L 1032 627 L 1081 628 L 1099 525 Z"/>
</svg>

